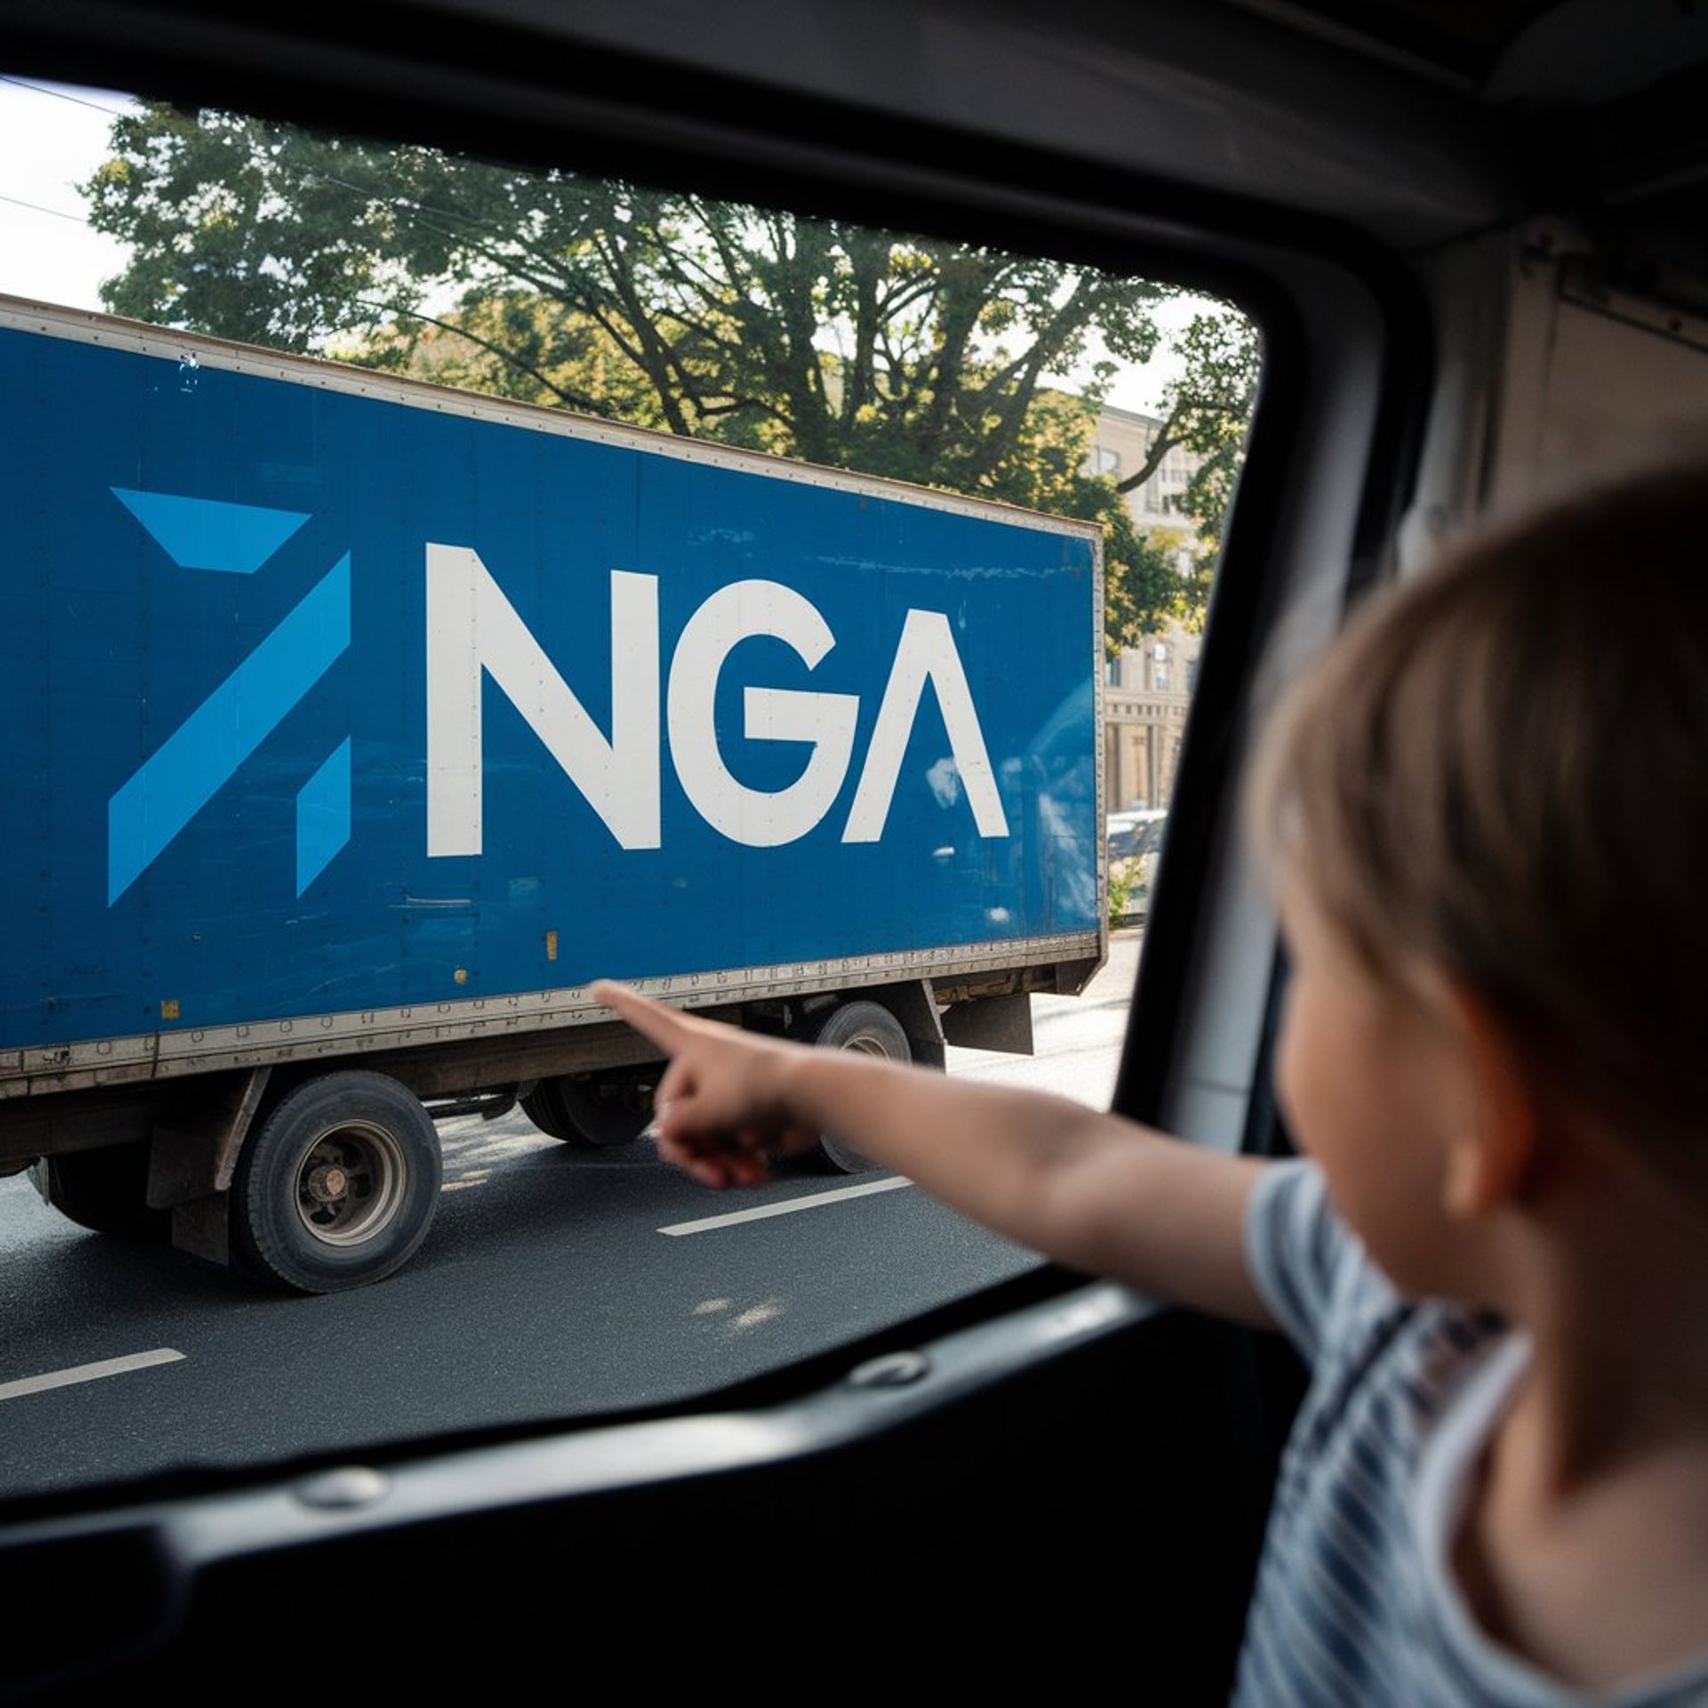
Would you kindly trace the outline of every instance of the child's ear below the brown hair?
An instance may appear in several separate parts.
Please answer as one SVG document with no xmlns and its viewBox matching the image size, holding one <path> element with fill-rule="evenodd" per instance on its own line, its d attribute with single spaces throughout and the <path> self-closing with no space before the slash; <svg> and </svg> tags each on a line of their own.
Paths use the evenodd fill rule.
<svg viewBox="0 0 1708 1708">
<path fill-rule="evenodd" d="M 1530 1076 L 1488 1004 L 1462 984 L 1442 986 L 1465 1062 L 1465 1107 L 1448 1134 L 1443 1208 L 1476 1221 L 1522 1196 L 1537 1146 Z"/>
</svg>

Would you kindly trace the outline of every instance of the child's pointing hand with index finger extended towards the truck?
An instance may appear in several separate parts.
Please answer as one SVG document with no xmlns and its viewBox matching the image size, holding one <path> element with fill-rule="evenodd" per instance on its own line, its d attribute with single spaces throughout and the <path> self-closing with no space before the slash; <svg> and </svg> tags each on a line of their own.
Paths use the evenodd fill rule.
<svg viewBox="0 0 1708 1708">
<path fill-rule="evenodd" d="M 705 1185 L 755 1185 L 772 1156 L 811 1149 L 818 1131 L 787 1107 L 789 1068 L 808 1045 L 758 1038 L 601 979 L 593 996 L 670 1057 L 652 1093 L 658 1153 Z"/>
</svg>

